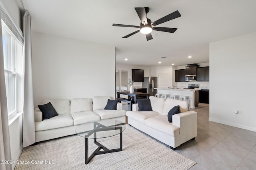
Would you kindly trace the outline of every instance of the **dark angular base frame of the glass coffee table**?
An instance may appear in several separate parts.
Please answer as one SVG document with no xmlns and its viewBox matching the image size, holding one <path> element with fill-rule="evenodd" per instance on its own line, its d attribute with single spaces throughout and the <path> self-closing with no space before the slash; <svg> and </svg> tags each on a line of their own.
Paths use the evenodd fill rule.
<svg viewBox="0 0 256 170">
<path fill-rule="evenodd" d="M 120 124 L 121 125 L 121 124 Z M 94 122 L 93 124 L 93 130 L 89 131 L 87 135 L 84 136 L 84 146 L 85 146 L 85 164 L 88 164 L 90 160 L 97 154 L 105 154 L 105 153 L 111 153 L 111 152 L 119 152 L 122 151 L 122 126 L 116 127 L 116 125 L 113 126 L 105 126 L 98 122 Z M 100 131 L 111 131 L 111 130 L 120 130 L 120 148 L 118 149 L 108 149 L 104 147 L 102 144 L 97 142 L 97 132 Z M 88 155 L 88 137 L 94 133 L 94 143 L 98 145 L 98 148 L 91 154 L 91 156 Z M 100 151 L 100 149 L 103 149 Z"/>
</svg>

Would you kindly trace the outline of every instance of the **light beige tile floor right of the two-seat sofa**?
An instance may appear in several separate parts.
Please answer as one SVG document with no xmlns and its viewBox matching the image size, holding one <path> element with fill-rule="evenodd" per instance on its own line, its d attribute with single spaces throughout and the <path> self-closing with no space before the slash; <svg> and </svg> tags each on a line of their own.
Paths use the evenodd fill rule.
<svg viewBox="0 0 256 170">
<path fill-rule="evenodd" d="M 191 170 L 256 170 L 256 132 L 208 121 L 208 104 L 192 110 L 198 113 L 198 136 L 175 150 L 197 162 Z"/>
</svg>

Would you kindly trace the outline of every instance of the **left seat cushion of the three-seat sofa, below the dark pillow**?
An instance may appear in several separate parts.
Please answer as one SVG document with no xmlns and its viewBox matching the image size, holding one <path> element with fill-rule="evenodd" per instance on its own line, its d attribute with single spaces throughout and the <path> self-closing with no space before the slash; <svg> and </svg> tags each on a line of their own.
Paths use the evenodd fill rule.
<svg viewBox="0 0 256 170">
<path fill-rule="evenodd" d="M 35 131 L 44 131 L 72 125 L 74 125 L 72 116 L 70 114 L 62 114 L 54 116 L 51 119 L 35 122 Z"/>
</svg>

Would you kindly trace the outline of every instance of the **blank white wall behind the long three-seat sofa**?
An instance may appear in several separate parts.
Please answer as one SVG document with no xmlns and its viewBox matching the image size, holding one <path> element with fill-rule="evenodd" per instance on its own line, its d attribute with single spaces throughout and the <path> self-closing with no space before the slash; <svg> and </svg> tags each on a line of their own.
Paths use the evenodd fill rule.
<svg viewBox="0 0 256 170">
<path fill-rule="evenodd" d="M 32 32 L 34 106 L 42 100 L 115 98 L 115 47 Z"/>
</svg>

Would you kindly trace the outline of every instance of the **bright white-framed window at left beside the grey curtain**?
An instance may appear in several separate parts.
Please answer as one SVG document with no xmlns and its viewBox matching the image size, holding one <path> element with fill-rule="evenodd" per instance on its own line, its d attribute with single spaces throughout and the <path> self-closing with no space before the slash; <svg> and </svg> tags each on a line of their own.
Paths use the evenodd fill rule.
<svg viewBox="0 0 256 170">
<path fill-rule="evenodd" d="M 8 115 L 16 112 L 17 47 L 22 46 L 9 27 L 2 21 L 4 74 Z M 19 47 L 19 48 L 20 48 Z"/>
</svg>

